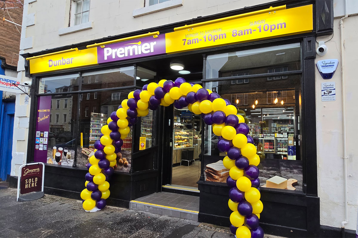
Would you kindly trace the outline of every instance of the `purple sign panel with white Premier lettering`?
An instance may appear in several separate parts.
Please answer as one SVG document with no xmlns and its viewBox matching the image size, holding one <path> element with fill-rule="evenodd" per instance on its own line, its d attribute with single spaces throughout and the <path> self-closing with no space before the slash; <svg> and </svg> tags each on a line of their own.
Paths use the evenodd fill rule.
<svg viewBox="0 0 358 238">
<path fill-rule="evenodd" d="M 164 34 L 97 47 L 98 64 L 159 54 L 165 54 Z"/>
</svg>

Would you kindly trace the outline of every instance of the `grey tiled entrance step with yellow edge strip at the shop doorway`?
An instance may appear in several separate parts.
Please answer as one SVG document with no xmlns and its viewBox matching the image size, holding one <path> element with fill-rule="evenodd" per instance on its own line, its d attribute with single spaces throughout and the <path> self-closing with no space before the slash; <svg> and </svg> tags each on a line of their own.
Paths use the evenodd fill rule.
<svg viewBox="0 0 358 238">
<path fill-rule="evenodd" d="M 199 197 L 160 192 L 132 200 L 130 208 L 136 211 L 198 221 Z"/>
</svg>

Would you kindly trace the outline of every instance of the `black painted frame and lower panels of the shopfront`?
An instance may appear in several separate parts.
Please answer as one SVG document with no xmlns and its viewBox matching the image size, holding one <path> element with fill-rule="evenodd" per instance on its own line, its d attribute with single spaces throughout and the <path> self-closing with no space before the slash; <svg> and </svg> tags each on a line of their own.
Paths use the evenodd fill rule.
<svg viewBox="0 0 358 238">
<path fill-rule="evenodd" d="M 318 197 L 318 188 L 317 188 L 317 155 L 316 155 L 316 115 L 315 115 L 315 37 L 321 35 L 330 35 L 333 32 L 333 1 L 324 0 L 324 1 L 275 1 L 268 4 L 257 5 L 253 7 L 245 7 L 243 9 L 238 9 L 230 12 L 225 12 L 222 14 L 216 14 L 208 17 L 198 17 L 197 19 L 178 22 L 175 24 L 170 24 L 162 27 L 155 27 L 155 29 L 147 29 L 144 31 L 131 32 L 130 34 L 108 37 L 105 40 L 113 40 L 122 37 L 127 37 L 131 35 L 138 35 L 144 32 L 151 30 L 159 30 L 161 33 L 170 32 L 173 30 L 173 27 L 182 26 L 185 24 L 197 23 L 202 21 L 208 21 L 213 19 L 218 19 L 221 17 L 237 15 L 245 12 L 265 9 L 270 6 L 279 6 L 287 5 L 287 8 L 296 7 L 301 5 L 313 4 L 313 25 L 315 26 L 314 31 L 306 34 L 292 35 L 278 37 L 268 40 L 260 40 L 253 42 L 245 42 L 236 45 L 227 45 L 211 49 L 202 49 L 190 52 L 182 52 L 178 54 L 171 55 L 162 55 L 162 56 L 152 56 L 145 59 L 136 59 L 129 60 L 126 62 L 114 62 L 112 64 L 106 65 L 97 65 L 83 67 L 81 69 L 70 69 L 63 70 L 61 72 L 51 72 L 46 74 L 38 74 L 32 76 L 29 74 L 29 62 L 25 61 L 26 76 L 32 77 L 33 85 L 30 90 L 32 100 L 31 100 L 31 111 L 30 111 L 30 122 L 29 122 L 29 137 L 28 137 L 28 153 L 27 153 L 27 162 L 33 161 L 34 156 L 34 141 L 33 135 L 35 133 L 35 112 L 37 107 L 37 88 L 39 85 L 39 78 L 43 76 L 54 76 L 54 75 L 66 75 L 73 74 L 78 72 L 86 71 L 98 71 L 103 69 L 112 69 L 116 67 L 136 65 L 142 61 L 146 60 L 155 60 L 161 58 L 169 58 L 175 56 L 185 56 L 190 54 L 203 54 L 204 68 L 203 68 L 203 79 L 202 82 L 213 81 L 212 79 L 205 79 L 205 59 L 206 55 L 219 54 L 221 52 L 228 51 L 239 51 L 242 49 L 252 49 L 258 47 L 267 47 L 273 45 L 284 45 L 294 42 L 300 42 L 301 44 L 301 62 L 302 67 L 299 71 L 287 72 L 287 75 L 301 74 L 303 80 L 301 80 L 301 132 L 304 140 L 301 145 L 301 155 L 303 160 L 303 192 L 292 192 L 292 191 L 282 191 L 281 189 L 272 189 L 272 188 L 261 188 L 261 200 L 264 204 L 264 211 L 261 214 L 260 222 L 261 226 L 264 229 L 265 233 L 275 234 L 285 237 L 319 237 L 320 236 L 320 208 L 319 208 L 319 197 Z M 321 9 L 324 8 L 324 5 L 328 5 L 329 13 L 327 14 L 328 19 L 323 21 L 321 19 Z M 97 40 L 98 41 L 98 40 Z M 83 42 L 81 44 L 72 45 L 78 47 L 79 49 L 84 48 L 88 44 L 95 43 L 97 41 Z M 41 55 L 47 54 L 50 52 L 55 52 L 63 49 L 68 49 L 69 46 L 59 47 L 56 49 L 37 52 L 34 54 L 24 54 L 24 57 L 30 57 L 32 55 Z M 81 73 L 80 73 L 81 74 Z M 264 74 L 262 76 L 274 76 L 273 74 Z M 281 73 L 282 75 L 282 73 Z M 81 77 L 81 75 L 80 75 Z M 257 77 L 257 75 L 255 75 Z M 237 77 L 237 79 L 239 79 Z M 135 79 L 135 77 L 134 77 Z M 221 78 L 220 80 L 231 80 Z M 134 86 L 121 87 L 121 88 L 111 88 L 112 89 L 129 89 L 136 88 Z M 108 90 L 108 89 L 106 89 Z M 81 91 L 85 93 L 89 91 Z M 61 94 L 61 93 L 50 93 L 52 95 Z M 50 95 L 46 93 L 45 95 Z M 62 93 L 63 94 L 63 93 Z M 79 108 L 79 100 L 77 105 L 77 110 Z M 164 135 L 165 131 L 165 118 L 163 115 L 164 108 L 160 107 L 158 109 L 158 135 Z M 77 113 L 79 117 L 79 113 Z M 77 118 L 77 123 L 78 122 Z M 77 127 L 78 128 L 78 127 Z M 204 131 L 204 130 L 203 130 Z M 204 140 L 202 140 L 203 143 Z M 134 153 L 133 157 L 143 157 L 148 153 L 154 153 L 157 151 L 157 160 L 154 162 L 154 169 L 140 171 L 140 172 L 130 172 L 130 173 L 121 173 L 115 172 L 113 174 L 111 183 L 111 197 L 107 199 L 107 203 L 111 205 L 129 207 L 131 200 L 138 197 L 146 196 L 154 192 L 161 191 L 162 185 L 162 170 L 163 170 L 163 157 L 165 156 L 165 148 L 168 147 L 168 140 L 165 140 L 165 137 L 162 136 L 158 138 L 158 146 L 149 148 L 145 151 L 140 151 Z M 202 151 L 203 144 L 202 144 Z M 205 159 L 205 156 L 203 156 Z M 203 163 L 202 163 L 203 164 Z M 74 171 L 76 171 L 74 173 Z M 55 165 L 46 165 L 45 169 L 45 192 L 50 194 L 56 194 L 59 196 L 70 197 L 70 198 L 79 198 L 79 193 L 84 188 L 84 176 L 87 173 L 87 169 L 77 168 L 68 168 L 66 166 L 55 166 Z M 60 181 L 60 182 L 59 182 Z M 199 190 L 200 190 L 200 209 L 199 209 L 199 222 L 207 222 L 212 224 L 218 224 L 223 226 L 228 226 L 229 224 L 229 214 L 230 211 L 227 208 L 228 201 L 228 186 L 220 183 L 204 181 L 203 177 L 203 168 L 202 176 L 198 181 Z M 144 189 L 142 191 L 141 189 Z M 213 206 L 213 201 L 218 201 Z"/>
</svg>

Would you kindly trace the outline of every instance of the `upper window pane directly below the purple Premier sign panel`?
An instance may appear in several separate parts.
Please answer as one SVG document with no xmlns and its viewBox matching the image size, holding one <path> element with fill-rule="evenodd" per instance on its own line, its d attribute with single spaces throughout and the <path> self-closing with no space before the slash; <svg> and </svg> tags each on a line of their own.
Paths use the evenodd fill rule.
<svg viewBox="0 0 358 238">
<path fill-rule="evenodd" d="M 93 77 L 92 75 L 95 75 L 96 80 L 87 83 L 88 77 Z M 82 90 L 132 86 L 134 85 L 134 66 L 83 73 L 82 76 L 84 79 Z"/>
</svg>

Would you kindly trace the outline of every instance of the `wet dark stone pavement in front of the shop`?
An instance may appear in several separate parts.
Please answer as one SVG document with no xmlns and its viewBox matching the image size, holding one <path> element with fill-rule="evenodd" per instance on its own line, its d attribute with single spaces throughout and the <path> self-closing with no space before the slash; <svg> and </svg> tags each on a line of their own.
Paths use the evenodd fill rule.
<svg viewBox="0 0 358 238">
<path fill-rule="evenodd" d="M 48 194 L 16 202 L 16 189 L 4 187 L 0 189 L 0 237 L 234 238 L 227 227 L 110 206 L 89 213 L 79 200 Z"/>
</svg>

